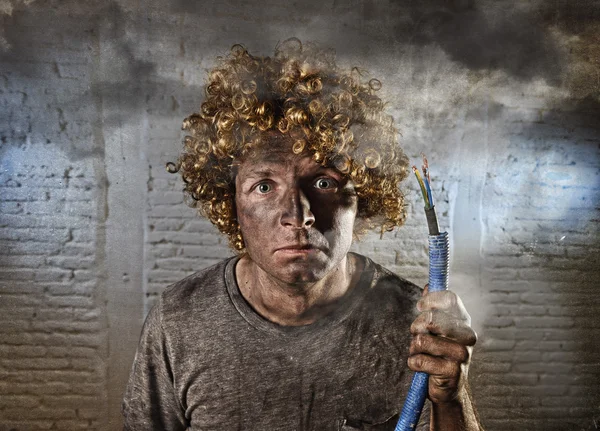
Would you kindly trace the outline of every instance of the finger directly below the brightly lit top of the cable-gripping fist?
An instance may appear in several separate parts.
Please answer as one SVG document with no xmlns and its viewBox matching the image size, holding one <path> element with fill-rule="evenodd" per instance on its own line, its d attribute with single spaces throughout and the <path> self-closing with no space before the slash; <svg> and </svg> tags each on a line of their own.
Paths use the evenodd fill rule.
<svg viewBox="0 0 600 431">
<path fill-rule="evenodd" d="M 473 346 L 477 342 L 477 334 L 468 322 L 440 310 L 419 314 L 410 326 L 410 332 L 413 335 L 441 335 L 465 346 Z"/>
</svg>

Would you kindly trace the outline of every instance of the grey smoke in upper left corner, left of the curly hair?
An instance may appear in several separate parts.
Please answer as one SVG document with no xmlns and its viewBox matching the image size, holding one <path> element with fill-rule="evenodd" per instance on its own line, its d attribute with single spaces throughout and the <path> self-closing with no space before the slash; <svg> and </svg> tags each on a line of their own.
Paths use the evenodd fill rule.
<svg viewBox="0 0 600 431">
<path fill-rule="evenodd" d="M 118 2 L 67 0 L 54 8 L 32 1 L 4 2 L 1 10 L 0 76 L 10 77 L 17 88 L 28 82 L 13 98 L 20 95 L 25 101 L 30 92 L 37 96 L 36 87 L 45 83 L 56 89 L 44 95 L 47 105 L 59 106 L 49 110 L 22 102 L 9 114 L 12 125 L 3 131 L 4 140 L 52 143 L 73 160 L 95 157 L 103 150 L 89 138 L 86 125 L 95 122 L 110 133 L 136 127 L 149 110 L 183 118 L 178 111 L 182 106 L 187 111 L 190 95 L 198 103 L 200 84 L 163 72 L 178 61 L 177 55 L 168 60 L 165 55 L 182 55 L 179 43 L 153 56 L 150 33 L 156 28 L 139 9 L 125 9 Z M 176 124 L 175 135 L 178 128 Z"/>
</svg>

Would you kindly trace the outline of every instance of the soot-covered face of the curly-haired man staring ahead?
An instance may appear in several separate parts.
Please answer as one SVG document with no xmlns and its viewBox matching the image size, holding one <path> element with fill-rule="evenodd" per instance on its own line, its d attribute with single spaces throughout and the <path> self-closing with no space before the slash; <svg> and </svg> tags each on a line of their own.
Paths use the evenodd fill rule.
<svg viewBox="0 0 600 431">
<path fill-rule="evenodd" d="M 286 283 L 314 282 L 338 267 L 352 243 L 354 186 L 290 145 L 238 166 L 236 210 L 249 257 Z"/>
</svg>

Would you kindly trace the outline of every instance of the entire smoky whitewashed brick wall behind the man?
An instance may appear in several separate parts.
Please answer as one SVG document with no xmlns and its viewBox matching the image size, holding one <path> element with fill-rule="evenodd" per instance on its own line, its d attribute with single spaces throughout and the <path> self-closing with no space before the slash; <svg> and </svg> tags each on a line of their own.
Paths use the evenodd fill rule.
<svg viewBox="0 0 600 431">
<path fill-rule="evenodd" d="M 230 251 L 164 165 L 234 43 L 379 77 L 431 161 L 489 430 L 600 425 L 600 9 L 592 1 L 0 1 L 0 430 L 119 429 L 145 314 Z M 423 284 L 425 221 L 355 249 Z"/>
</svg>

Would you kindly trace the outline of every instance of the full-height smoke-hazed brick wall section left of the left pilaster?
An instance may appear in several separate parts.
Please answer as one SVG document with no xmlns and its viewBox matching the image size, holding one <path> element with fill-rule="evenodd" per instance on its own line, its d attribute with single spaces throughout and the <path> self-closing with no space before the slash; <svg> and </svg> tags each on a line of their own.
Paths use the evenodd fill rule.
<svg viewBox="0 0 600 431">
<path fill-rule="evenodd" d="M 0 52 L 0 429 L 106 428 L 93 39 L 65 16 L 40 27 L 51 9 L 15 6 L 1 17 L 11 49 Z"/>
</svg>

